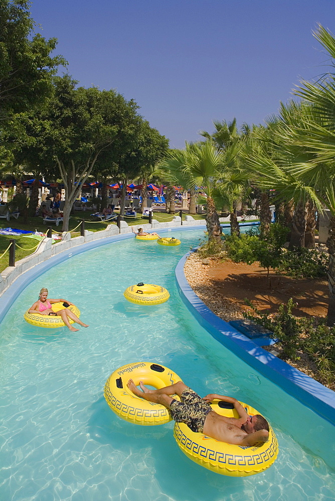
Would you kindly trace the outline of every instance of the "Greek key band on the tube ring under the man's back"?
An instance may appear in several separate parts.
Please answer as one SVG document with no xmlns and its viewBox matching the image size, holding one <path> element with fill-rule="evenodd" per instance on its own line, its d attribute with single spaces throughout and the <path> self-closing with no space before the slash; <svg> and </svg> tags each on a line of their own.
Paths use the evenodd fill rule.
<svg viewBox="0 0 335 501">
<path fill-rule="evenodd" d="M 177 440 L 183 444 L 189 451 L 193 454 L 197 454 L 198 456 L 204 459 L 210 459 L 211 461 L 217 461 L 219 463 L 224 463 L 230 466 L 256 466 L 268 461 L 271 457 L 276 454 L 277 451 L 277 439 L 275 435 L 272 433 L 272 440 L 268 444 L 268 447 L 265 451 L 254 454 L 227 454 L 225 452 L 218 452 L 216 450 L 209 449 L 203 445 L 199 445 L 196 442 L 193 442 L 190 438 L 188 438 L 178 423 L 176 423 L 175 433 Z M 248 447 L 250 450 L 250 447 Z M 253 447 L 253 449 L 255 449 Z M 257 449 L 256 449 L 257 450 Z"/>
</svg>

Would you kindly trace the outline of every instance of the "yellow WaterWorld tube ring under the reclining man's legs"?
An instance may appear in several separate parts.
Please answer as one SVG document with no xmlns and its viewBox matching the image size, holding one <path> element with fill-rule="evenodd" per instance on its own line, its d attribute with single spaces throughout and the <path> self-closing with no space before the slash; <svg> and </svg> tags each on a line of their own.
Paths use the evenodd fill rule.
<svg viewBox="0 0 335 501">
<path fill-rule="evenodd" d="M 138 362 L 123 365 L 109 376 L 105 384 L 104 397 L 109 407 L 122 419 L 145 426 L 171 421 L 171 414 L 164 405 L 147 402 L 134 395 L 127 387 L 129 379 L 132 379 L 135 385 L 143 381 L 143 384 L 159 389 L 175 384 L 181 381 L 181 378 L 163 365 Z M 179 400 L 178 395 L 173 398 Z"/>
</svg>

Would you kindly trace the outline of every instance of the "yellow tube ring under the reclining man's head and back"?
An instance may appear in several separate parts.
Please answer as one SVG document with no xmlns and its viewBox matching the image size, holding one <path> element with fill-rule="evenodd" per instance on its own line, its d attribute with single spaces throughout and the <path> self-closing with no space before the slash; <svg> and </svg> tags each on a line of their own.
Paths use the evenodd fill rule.
<svg viewBox="0 0 335 501">
<path fill-rule="evenodd" d="M 212 408 L 218 414 L 227 417 L 239 415 L 235 409 L 219 407 L 220 402 L 215 400 Z M 241 405 L 249 415 L 259 412 L 243 402 Z M 259 446 L 245 447 L 220 442 L 203 433 L 193 432 L 186 424 L 176 423 L 174 436 L 182 451 L 192 461 L 216 473 L 228 476 L 249 476 L 259 473 L 275 461 L 278 454 L 278 442 L 270 426 L 269 439 Z"/>
</svg>

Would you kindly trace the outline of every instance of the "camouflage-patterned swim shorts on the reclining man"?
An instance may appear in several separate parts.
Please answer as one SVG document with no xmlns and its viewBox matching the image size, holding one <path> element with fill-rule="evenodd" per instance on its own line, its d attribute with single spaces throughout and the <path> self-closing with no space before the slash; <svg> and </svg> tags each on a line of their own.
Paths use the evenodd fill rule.
<svg viewBox="0 0 335 501">
<path fill-rule="evenodd" d="M 212 410 L 210 404 L 191 388 L 185 388 L 181 399 L 181 402 L 175 399 L 171 402 L 172 418 L 178 423 L 187 424 L 192 431 L 202 433 L 207 414 Z"/>
</svg>

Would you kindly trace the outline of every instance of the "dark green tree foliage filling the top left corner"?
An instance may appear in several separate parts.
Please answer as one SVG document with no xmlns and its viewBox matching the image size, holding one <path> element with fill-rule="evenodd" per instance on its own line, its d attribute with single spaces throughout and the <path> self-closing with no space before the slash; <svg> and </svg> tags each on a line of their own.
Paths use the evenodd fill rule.
<svg viewBox="0 0 335 501">
<path fill-rule="evenodd" d="M 67 63 L 51 57 L 57 40 L 34 33 L 26 0 L 0 0 L 0 121 L 41 106 L 52 93 L 52 75 Z"/>
</svg>

